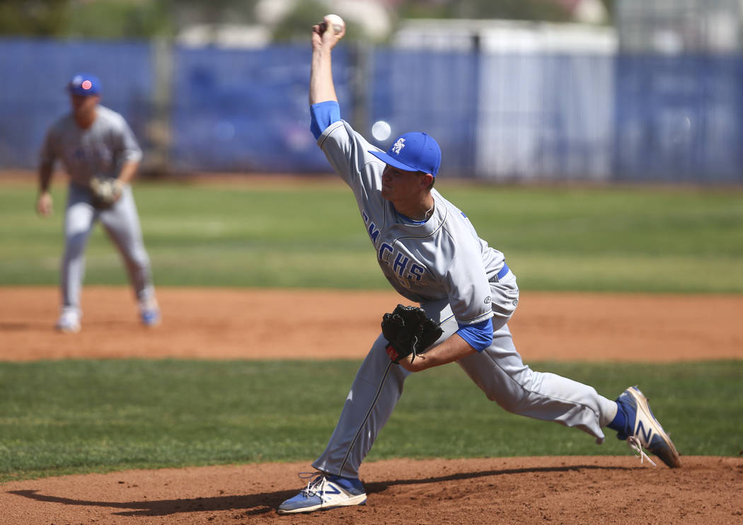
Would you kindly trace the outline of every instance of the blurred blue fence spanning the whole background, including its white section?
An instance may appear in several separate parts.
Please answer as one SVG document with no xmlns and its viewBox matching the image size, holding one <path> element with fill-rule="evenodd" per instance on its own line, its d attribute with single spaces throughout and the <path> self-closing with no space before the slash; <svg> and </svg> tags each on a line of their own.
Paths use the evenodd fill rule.
<svg viewBox="0 0 743 525">
<path fill-rule="evenodd" d="M 370 140 L 371 123 L 388 121 L 383 149 L 403 132 L 429 132 L 447 176 L 743 182 L 741 56 L 377 48 L 357 62 L 352 51 L 333 57 L 343 117 Z M 308 129 L 310 53 L 172 48 L 169 168 L 328 172 Z M 152 153 L 161 137 L 154 56 L 149 42 L 0 39 L 0 168 L 36 167 L 46 129 L 68 111 L 64 86 L 76 71 L 100 76 L 103 104 Z"/>
</svg>

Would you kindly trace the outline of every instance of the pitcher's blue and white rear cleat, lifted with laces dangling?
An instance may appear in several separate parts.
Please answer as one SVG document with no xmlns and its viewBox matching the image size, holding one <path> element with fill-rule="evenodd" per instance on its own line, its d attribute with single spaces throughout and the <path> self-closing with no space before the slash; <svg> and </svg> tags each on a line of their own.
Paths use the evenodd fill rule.
<svg viewBox="0 0 743 525">
<path fill-rule="evenodd" d="M 617 397 L 617 403 L 620 409 L 626 414 L 627 425 L 624 432 L 619 432 L 617 438 L 627 440 L 627 444 L 640 457 L 640 462 L 647 458 L 650 463 L 653 461 L 643 452 L 645 447 L 652 454 L 661 458 L 672 469 L 681 466 L 681 458 L 678 455 L 676 447 L 666 431 L 663 430 L 661 423 L 655 419 L 650 411 L 647 398 L 640 392 L 636 386 L 632 386 L 623 391 L 620 397 Z"/>
</svg>

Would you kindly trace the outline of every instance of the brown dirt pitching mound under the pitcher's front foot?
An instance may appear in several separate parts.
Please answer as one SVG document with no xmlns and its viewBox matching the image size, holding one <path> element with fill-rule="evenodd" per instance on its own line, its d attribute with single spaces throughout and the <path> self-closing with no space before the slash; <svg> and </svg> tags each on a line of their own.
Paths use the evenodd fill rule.
<svg viewBox="0 0 743 525">
<path fill-rule="evenodd" d="M 740 524 L 743 460 L 510 457 L 367 463 L 365 506 L 281 516 L 306 464 L 163 469 L 5 483 L 4 524 Z M 645 463 L 647 465 L 647 463 Z"/>
</svg>

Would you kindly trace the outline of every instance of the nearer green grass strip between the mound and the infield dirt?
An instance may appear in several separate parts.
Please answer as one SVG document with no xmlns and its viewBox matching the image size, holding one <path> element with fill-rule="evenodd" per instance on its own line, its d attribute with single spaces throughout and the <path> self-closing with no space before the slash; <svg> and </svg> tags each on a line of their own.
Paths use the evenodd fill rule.
<svg viewBox="0 0 743 525">
<path fill-rule="evenodd" d="M 359 363 L 61 361 L 0 363 L 0 481 L 74 472 L 314 460 Z M 690 367 L 535 363 L 607 397 L 639 384 L 682 454 L 743 449 L 743 362 Z M 441 425 L 441 422 L 446 422 Z M 458 366 L 411 376 L 369 454 L 499 457 L 631 454 L 607 430 L 508 414 Z"/>
</svg>

